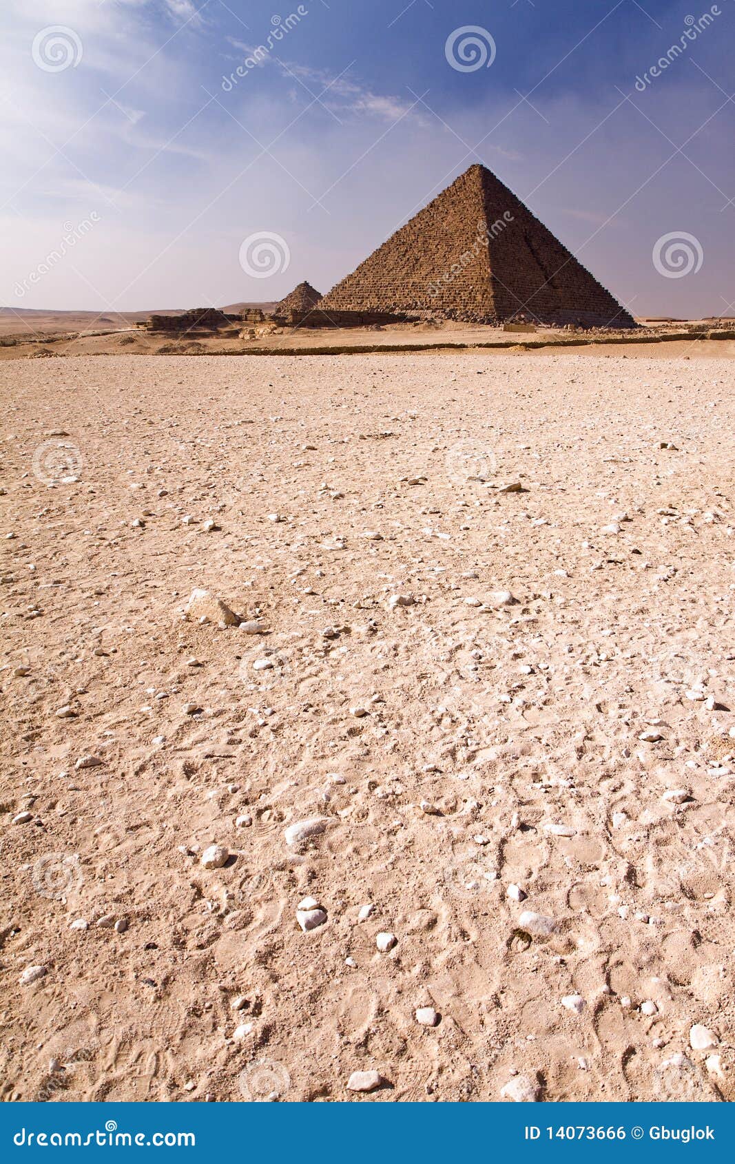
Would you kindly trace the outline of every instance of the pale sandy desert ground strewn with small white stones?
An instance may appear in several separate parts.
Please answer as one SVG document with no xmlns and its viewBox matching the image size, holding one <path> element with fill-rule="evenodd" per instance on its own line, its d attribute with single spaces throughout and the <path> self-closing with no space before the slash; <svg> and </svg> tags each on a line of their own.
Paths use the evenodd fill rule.
<svg viewBox="0 0 735 1164">
<path fill-rule="evenodd" d="M 729 361 L 0 392 L 3 1099 L 733 1098 Z"/>
</svg>

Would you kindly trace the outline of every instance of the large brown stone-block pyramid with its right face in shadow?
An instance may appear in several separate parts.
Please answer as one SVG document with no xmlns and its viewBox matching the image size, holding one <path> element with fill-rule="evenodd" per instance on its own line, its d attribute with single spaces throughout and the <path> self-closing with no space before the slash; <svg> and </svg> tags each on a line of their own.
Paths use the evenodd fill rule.
<svg viewBox="0 0 735 1164">
<path fill-rule="evenodd" d="M 457 178 L 319 306 L 476 324 L 635 326 L 609 291 L 483 165 Z"/>
</svg>

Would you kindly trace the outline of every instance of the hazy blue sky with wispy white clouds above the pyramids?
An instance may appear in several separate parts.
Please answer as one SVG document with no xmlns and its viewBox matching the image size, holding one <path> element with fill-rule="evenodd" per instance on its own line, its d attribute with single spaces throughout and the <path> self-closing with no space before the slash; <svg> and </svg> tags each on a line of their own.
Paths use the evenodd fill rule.
<svg viewBox="0 0 735 1164">
<path fill-rule="evenodd" d="M 326 291 L 480 161 L 634 313 L 735 314 L 734 48 L 733 0 L 3 0 L 0 303 Z"/>
</svg>

